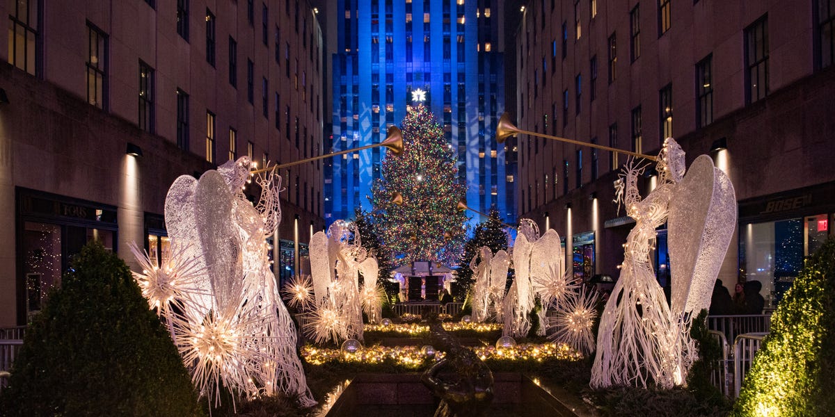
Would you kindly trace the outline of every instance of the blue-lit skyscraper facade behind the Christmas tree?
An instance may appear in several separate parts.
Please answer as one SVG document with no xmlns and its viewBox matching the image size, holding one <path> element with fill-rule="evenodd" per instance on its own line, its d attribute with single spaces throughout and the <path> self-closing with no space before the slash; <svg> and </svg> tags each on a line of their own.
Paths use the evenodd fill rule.
<svg viewBox="0 0 835 417">
<path fill-rule="evenodd" d="M 379 143 L 401 122 L 412 90 L 426 104 L 458 153 L 467 203 L 497 208 L 515 221 L 513 177 L 496 143 L 504 112 L 504 56 L 498 0 L 338 0 L 332 57 L 332 151 Z M 332 12 L 331 12 L 332 13 Z M 331 14 L 332 16 L 332 14 Z M 326 146 L 328 143 L 326 143 Z M 325 219 L 351 219 L 371 210 L 372 181 L 385 148 L 332 158 L 325 168 Z M 473 215 L 477 223 L 478 214 Z"/>
</svg>

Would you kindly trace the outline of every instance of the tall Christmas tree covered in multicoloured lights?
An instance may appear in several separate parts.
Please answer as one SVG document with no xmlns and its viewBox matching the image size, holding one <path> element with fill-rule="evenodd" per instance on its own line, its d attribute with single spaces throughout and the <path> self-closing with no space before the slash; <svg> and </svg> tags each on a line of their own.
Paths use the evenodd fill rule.
<svg viewBox="0 0 835 417">
<path fill-rule="evenodd" d="M 467 215 L 456 208 L 467 186 L 458 182 L 456 155 L 423 104 L 402 121 L 403 153 L 382 162 L 372 186 L 374 223 L 395 266 L 413 261 L 453 264 L 467 235 Z M 402 205 L 390 203 L 400 193 Z"/>
</svg>

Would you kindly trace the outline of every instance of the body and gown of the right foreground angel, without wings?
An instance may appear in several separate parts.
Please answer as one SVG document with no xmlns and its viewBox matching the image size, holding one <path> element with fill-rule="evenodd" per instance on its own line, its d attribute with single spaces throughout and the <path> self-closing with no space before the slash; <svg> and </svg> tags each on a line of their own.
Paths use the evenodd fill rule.
<svg viewBox="0 0 835 417">
<path fill-rule="evenodd" d="M 620 279 L 600 319 L 591 374 L 595 388 L 645 387 L 650 381 L 670 388 L 684 382 L 689 368 L 682 363 L 681 344 L 687 338 L 671 314 L 650 260 L 655 229 L 665 223 L 676 184 L 685 173 L 684 152 L 672 138 L 664 142 L 657 170 L 658 186 L 641 199 L 636 182 L 643 168 L 632 161 L 625 168 L 623 203 L 635 227 L 626 238 Z"/>
</svg>

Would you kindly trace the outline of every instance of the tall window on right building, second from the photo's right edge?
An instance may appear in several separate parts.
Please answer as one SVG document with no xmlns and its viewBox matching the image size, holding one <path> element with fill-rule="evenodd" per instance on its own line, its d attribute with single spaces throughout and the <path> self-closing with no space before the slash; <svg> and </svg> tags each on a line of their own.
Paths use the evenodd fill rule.
<svg viewBox="0 0 835 417">
<path fill-rule="evenodd" d="M 745 29 L 746 102 L 768 95 L 768 17 L 763 16 Z"/>
</svg>

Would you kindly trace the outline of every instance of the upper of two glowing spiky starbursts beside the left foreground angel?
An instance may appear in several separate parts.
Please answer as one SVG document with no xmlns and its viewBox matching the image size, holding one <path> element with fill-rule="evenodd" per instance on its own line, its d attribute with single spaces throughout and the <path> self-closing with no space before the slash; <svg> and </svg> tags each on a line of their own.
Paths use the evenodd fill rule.
<svg viewBox="0 0 835 417">
<path fill-rule="evenodd" d="M 130 252 L 142 267 L 142 272 L 132 272 L 134 279 L 142 289 L 142 295 L 148 299 L 152 309 L 160 316 L 169 314 L 170 304 L 176 300 L 178 309 L 194 311 L 199 299 L 210 297 L 208 290 L 201 289 L 200 280 L 205 268 L 197 258 L 190 258 L 189 245 L 180 240 L 173 240 L 163 248 L 161 265 L 156 259 L 150 259 L 148 252 L 134 243 L 128 244 Z M 185 304 L 185 305 L 184 305 Z"/>
</svg>

